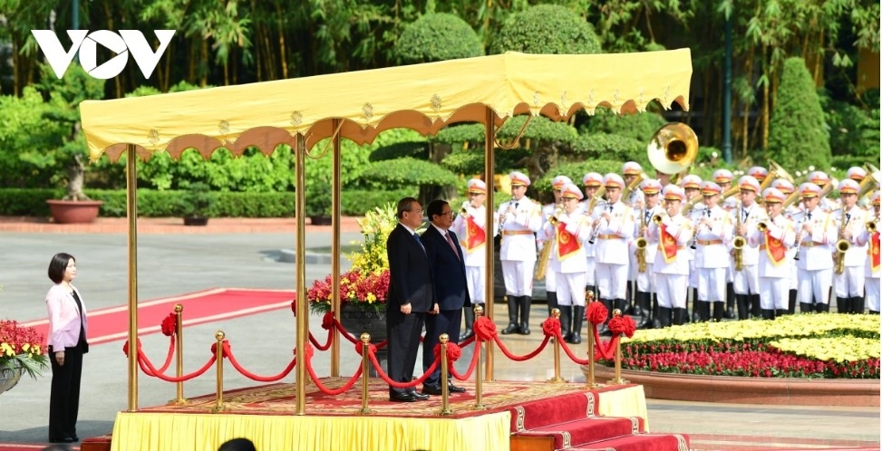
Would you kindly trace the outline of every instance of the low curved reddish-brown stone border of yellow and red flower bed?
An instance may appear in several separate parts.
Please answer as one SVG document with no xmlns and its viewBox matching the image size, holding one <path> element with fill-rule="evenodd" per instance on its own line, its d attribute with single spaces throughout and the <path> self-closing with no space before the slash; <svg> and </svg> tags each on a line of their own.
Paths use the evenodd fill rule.
<svg viewBox="0 0 882 451">
<path fill-rule="evenodd" d="M 587 378 L 587 367 L 581 367 Z M 595 365 L 606 384 L 615 369 Z M 644 386 L 646 398 L 783 406 L 879 405 L 879 379 L 797 379 L 699 376 L 622 369 L 622 379 Z"/>
</svg>

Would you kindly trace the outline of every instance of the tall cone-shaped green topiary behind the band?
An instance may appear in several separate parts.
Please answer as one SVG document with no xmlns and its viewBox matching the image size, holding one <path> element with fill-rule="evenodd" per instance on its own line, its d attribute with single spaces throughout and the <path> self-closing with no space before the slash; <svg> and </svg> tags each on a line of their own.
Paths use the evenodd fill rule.
<svg viewBox="0 0 882 451">
<path fill-rule="evenodd" d="M 769 125 L 766 159 L 784 168 L 830 167 L 830 142 L 809 70 L 801 58 L 789 58 L 781 73 L 778 102 Z"/>
</svg>

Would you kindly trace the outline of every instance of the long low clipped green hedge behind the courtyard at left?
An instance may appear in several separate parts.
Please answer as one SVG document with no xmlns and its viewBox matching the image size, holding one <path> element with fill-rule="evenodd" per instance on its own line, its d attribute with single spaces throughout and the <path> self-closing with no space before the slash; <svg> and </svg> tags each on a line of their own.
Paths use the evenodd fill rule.
<svg viewBox="0 0 882 451">
<path fill-rule="evenodd" d="M 104 217 L 126 214 L 126 193 L 122 190 L 86 190 L 94 200 L 104 204 L 99 213 Z M 182 191 L 138 190 L 138 214 L 148 217 L 180 216 L 179 198 Z M 295 196 L 282 193 L 218 192 L 217 200 L 208 210 L 209 216 L 220 217 L 290 217 L 295 214 Z M 49 216 L 46 199 L 60 199 L 63 189 L 5 188 L 0 189 L 0 216 Z M 343 193 L 344 216 L 362 216 L 374 206 L 397 202 L 402 197 L 416 197 L 416 188 L 398 190 L 348 190 Z"/>
</svg>

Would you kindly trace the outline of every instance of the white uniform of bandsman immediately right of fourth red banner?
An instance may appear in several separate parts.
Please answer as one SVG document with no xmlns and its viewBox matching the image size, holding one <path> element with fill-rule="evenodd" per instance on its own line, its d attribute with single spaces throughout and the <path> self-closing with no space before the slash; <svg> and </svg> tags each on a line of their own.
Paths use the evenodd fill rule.
<svg viewBox="0 0 882 451">
<path fill-rule="evenodd" d="M 833 244 L 837 230 L 832 217 L 820 207 L 794 218 L 800 242 L 797 261 L 800 303 L 829 305 L 830 285 L 833 283 Z M 803 224 L 811 226 L 810 233 L 802 232 Z M 812 302 L 814 300 L 814 302 Z"/>
</svg>

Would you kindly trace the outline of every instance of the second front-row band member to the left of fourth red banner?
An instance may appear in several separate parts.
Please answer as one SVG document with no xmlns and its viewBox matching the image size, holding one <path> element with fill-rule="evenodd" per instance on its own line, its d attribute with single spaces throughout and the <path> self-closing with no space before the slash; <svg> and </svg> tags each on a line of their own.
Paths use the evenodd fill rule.
<svg viewBox="0 0 882 451">
<path fill-rule="evenodd" d="M 732 221 L 729 214 L 717 203 L 722 188 L 714 182 L 702 183 L 701 193 L 704 209 L 693 217 L 695 243 L 695 272 L 698 275 L 699 321 L 710 321 L 713 305 L 713 321 L 722 321 L 725 310 L 726 270 L 729 267 L 729 250 L 732 241 Z"/>
</svg>

